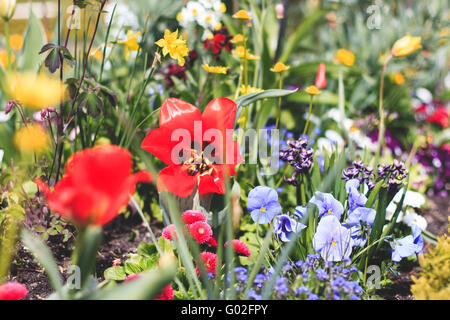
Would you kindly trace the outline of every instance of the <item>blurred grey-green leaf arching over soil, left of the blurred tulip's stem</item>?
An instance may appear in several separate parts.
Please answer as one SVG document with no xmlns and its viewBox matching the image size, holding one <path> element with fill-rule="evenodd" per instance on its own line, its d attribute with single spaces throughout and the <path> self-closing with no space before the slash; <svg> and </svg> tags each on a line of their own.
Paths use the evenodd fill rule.
<svg viewBox="0 0 450 320">
<path fill-rule="evenodd" d="M 22 241 L 33 252 L 40 265 L 45 269 L 53 289 L 60 292 L 62 288 L 61 274 L 50 249 L 41 239 L 26 229 L 23 230 Z"/>
</svg>

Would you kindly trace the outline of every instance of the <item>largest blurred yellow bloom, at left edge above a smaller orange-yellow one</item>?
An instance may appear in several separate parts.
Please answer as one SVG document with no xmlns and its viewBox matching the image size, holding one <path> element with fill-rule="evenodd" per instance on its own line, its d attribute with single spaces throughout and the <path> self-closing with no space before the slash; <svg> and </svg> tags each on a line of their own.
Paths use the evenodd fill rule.
<svg viewBox="0 0 450 320">
<path fill-rule="evenodd" d="M 7 90 L 24 107 L 40 110 L 59 104 L 64 86 L 59 79 L 45 74 L 15 73 L 8 76 Z"/>
</svg>

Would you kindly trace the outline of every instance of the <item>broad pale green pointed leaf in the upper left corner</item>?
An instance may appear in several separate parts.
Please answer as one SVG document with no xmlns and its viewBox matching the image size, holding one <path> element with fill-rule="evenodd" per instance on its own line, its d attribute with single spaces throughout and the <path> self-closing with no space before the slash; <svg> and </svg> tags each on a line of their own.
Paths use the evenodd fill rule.
<svg viewBox="0 0 450 320">
<path fill-rule="evenodd" d="M 22 53 L 18 61 L 20 71 L 37 71 L 43 57 L 39 55 L 45 45 L 45 31 L 41 22 L 30 8 L 28 27 L 23 40 Z"/>
</svg>

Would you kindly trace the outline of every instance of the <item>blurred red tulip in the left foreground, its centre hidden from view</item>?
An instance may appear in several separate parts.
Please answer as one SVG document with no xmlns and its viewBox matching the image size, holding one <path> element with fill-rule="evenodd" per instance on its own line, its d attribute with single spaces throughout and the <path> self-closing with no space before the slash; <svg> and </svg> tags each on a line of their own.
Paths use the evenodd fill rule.
<svg viewBox="0 0 450 320">
<path fill-rule="evenodd" d="M 127 150 L 103 145 L 75 153 L 53 191 L 39 179 L 36 184 L 62 217 L 81 226 L 104 225 L 128 204 L 138 182 L 151 181 L 148 172 L 131 174 L 132 168 Z"/>
</svg>

